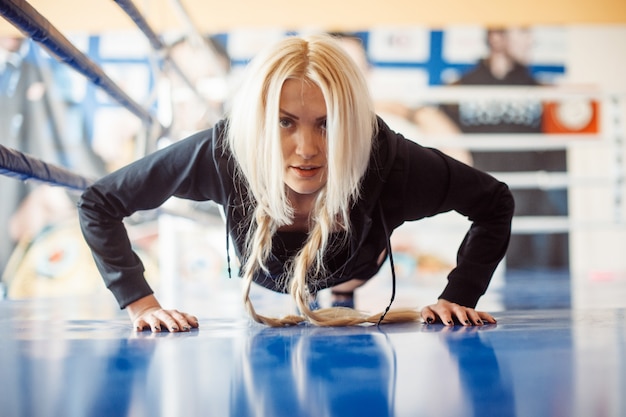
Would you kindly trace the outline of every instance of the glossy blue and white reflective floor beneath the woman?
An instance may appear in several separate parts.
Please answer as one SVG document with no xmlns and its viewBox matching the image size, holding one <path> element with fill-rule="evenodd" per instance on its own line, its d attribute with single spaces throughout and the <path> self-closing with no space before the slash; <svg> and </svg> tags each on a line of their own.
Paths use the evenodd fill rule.
<svg viewBox="0 0 626 417">
<path fill-rule="evenodd" d="M 624 309 L 153 335 L 107 300 L 0 302 L 1 416 L 626 416 Z"/>
</svg>

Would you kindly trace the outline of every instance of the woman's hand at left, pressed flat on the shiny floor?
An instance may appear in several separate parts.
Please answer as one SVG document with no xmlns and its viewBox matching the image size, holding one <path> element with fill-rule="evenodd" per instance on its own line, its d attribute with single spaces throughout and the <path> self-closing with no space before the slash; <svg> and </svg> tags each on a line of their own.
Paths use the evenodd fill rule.
<svg viewBox="0 0 626 417">
<path fill-rule="evenodd" d="M 135 329 L 140 332 L 146 327 L 160 332 L 165 326 L 170 332 L 186 332 L 198 327 L 198 319 L 178 310 L 164 310 L 154 295 L 148 295 L 129 304 L 126 309 Z"/>
</svg>

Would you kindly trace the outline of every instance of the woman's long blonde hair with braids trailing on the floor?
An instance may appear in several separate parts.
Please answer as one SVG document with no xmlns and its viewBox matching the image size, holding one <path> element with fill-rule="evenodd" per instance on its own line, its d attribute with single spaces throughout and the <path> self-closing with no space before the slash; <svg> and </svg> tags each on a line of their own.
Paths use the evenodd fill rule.
<svg viewBox="0 0 626 417">
<path fill-rule="evenodd" d="M 317 85 L 327 110 L 328 180 L 311 213 L 308 238 L 287 271 L 289 293 L 306 318 L 262 316 L 249 296 L 255 273 L 267 272 L 265 262 L 272 250 L 272 236 L 279 227 L 291 224 L 293 217 L 285 189 L 278 124 L 280 93 L 288 79 Z M 350 206 L 360 196 L 376 128 L 363 74 L 329 36 L 286 38 L 260 52 L 246 68 L 229 114 L 227 140 L 238 175 L 254 203 L 242 266 L 244 303 L 254 320 L 270 326 L 292 325 L 306 319 L 317 325 L 378 322 L 380 315 L 368 316 L 352 309 L 309 308 L 309 288 L 314 285 L 309 280 L 324 272 L 323 255 L 331 233 L 339 228 L 350 232 Z M 392 313 L 385 321 L 393 321 L 393 317 Z"/>
</svg>

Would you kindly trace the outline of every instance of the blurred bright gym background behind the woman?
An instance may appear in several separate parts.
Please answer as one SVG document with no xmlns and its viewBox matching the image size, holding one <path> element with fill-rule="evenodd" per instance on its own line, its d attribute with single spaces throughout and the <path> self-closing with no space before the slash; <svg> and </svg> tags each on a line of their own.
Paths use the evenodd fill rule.
<svg viewBox="0 0 626 417">
<path fill-rule="evenodd" d="M 514 190 L 514 236 L 482 308 L 626 304 L 623 1 L 2 0 L 0 12 L 4 154 L 99 178 L 212 126 L 259 48 L 334 33 L 392 128 Z M 79 191 L 0 172 L 1 298 L 106 293 Z M 166 302 L 236 290 L 213 205 L 172 199 L 127 227 Z M 436 298 L 467 227 L 450 213 L 397 231 L 399 304 Z"/>
</svg>

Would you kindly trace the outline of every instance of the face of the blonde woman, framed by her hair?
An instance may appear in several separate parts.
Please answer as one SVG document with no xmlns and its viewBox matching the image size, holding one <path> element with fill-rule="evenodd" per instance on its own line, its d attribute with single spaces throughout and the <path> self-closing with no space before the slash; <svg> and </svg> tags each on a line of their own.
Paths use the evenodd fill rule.
<svg viewBox="0 0 626 417">
<path fill-rule="evenodd" d="M 290 79 L 280 94 L 280 137 L 291 198 L 315 196 L 326 184 L 326 103 L 312 82 Z"/>
</svg>

